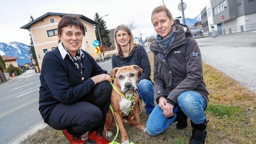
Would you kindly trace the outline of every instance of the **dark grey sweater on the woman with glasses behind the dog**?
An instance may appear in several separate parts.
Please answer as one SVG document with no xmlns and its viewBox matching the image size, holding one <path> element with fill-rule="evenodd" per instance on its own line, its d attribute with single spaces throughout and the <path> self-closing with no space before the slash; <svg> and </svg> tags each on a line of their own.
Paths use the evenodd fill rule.
<svg viewBox="0 0 256 144">
<path fill-rule="evenodd" d="M 142 79 L 150 80 L 150 75 L 151 75 L 150 61 L 148 59 L 148 54 L 142 45 L 137 46 L 135 50 L 128 57 L 123 57 L 121 55 L 112 56 L 112 68 L 121 67 L 121 66 L 130 66 L 133 64 L 139 66 L 143 70 L 142 74 L 141 72 L 139 72 L 138 74 L 139 76 L 138 83 Z"/>
</svg>

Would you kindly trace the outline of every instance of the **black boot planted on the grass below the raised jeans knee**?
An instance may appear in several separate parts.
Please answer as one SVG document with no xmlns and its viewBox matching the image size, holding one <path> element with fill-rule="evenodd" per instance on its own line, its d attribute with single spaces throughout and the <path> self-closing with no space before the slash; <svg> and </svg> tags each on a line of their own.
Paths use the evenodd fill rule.
<svg viewBox="0 0 256 144">
<path fill-rule="evenodd" d="M 191 126 L 193 127 L 193 130 L 189 144 L 204 144 L 204 140 L 207 134 L 205 130 L 207 123 L 208 121 L 206 121 L 206 119 L 204 120 L 204 123 L 198 125 L 194 124 L 193 121 L 191 121 Z"/>
</svg>

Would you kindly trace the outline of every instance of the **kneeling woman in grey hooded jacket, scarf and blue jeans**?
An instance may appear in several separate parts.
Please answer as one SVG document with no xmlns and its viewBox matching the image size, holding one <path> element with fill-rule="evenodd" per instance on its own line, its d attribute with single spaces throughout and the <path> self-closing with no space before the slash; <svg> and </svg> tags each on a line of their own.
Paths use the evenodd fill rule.
<svg viewBox="0 0 256 144">
<path fill-rule="evenodd" d="M 186 25 L 175 25 L 165 5 L 152 11 L 151 21 L 157 32 L 150 50 L 154 53 L 154 96 L 158 105 L 148 119 L 147 132 L 156 136 L 175 120 L 177 129 L 184 129 L 189 117 L 193 127 L 190 144 L 202 144 L 208 91 L 200 49 Z"/>
</svg>

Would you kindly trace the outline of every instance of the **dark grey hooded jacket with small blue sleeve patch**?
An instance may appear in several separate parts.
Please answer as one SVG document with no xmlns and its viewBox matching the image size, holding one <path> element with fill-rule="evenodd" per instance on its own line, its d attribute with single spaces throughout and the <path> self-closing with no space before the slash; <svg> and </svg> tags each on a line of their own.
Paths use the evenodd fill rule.
<svg viewBox="0 0 256 144">
<path fill-rule="evenodd" d="M 154 53 L 154 96 L 163 96 L 172 105 L 184 91 L 200 93 L 208 104 L 208 90 L 204 83 L 202 55 L 187 25 L 174 25 L 176 34 L 166 55 L 154 40 L 150 51 Z M 207 106 L 206 106 L 207 107 Z M 205 108 L 206 109 L 206 108 Z"/>
</svg>

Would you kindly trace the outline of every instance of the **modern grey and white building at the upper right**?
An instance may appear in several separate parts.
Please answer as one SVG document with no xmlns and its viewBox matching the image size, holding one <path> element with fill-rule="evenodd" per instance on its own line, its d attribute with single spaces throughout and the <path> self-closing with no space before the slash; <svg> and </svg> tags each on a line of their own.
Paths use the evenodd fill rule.
<svg viewBox="0 0 256 144">
<path fill-rule="evenodd" d="M 256 30 L 256 0 L 210 0 L 201 18 L 204 36 Z"/>
</svg>

